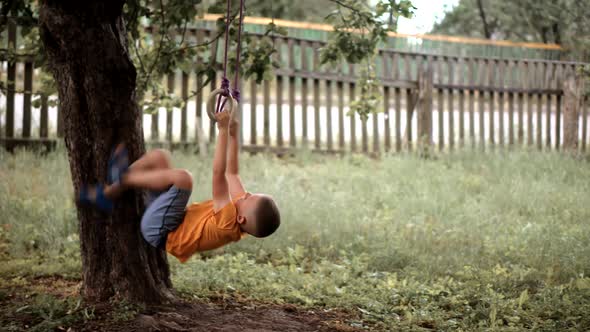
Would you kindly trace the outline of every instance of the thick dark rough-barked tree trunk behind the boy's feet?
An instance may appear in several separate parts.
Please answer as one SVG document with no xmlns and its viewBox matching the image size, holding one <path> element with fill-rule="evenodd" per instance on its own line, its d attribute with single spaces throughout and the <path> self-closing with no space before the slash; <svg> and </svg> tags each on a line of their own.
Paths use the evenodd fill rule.
<svg viewBox="0 0 590 332">
<path fill-rule="evenodd" d="M 76 194 L 104 183 L 111 148 L 124 141 L 131 160 L 144 152 L 135 67 L 127 50 L 124 1 L 41 2 L 39 25 L 59 92 L 65 144 Z M 83 296 L 102 301 L 172 298 L 166 254 L 147 244 L 139 221 L 139 192 L 124 195 L 106 216 L 78 206 Z"/>
</svg>

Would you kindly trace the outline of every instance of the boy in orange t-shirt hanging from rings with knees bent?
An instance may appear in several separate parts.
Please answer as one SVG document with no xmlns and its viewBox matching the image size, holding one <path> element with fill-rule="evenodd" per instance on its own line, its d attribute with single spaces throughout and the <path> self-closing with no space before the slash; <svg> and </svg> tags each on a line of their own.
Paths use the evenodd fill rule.
<svg viewBox="0 0 590 332">
<path fill-rule="evenodd" d="M 150 151 L 127 168 L 126 150 L 119 145 L 109 162 L 112 183 L 96 186 L 90 194 L 83 188 L 80 201 L 108 210 L 110 200 L 128 188 L 150 190 L 155 199 L 141 219 L 141 233 L 183 263 L 195 252 L 219 248 L 245 234 L 269 236 L 280 225 L 278 208 L 270 196 L 245 191 L 238 174 L 238 124 L 230 124 L 229 118 L 227 112 L 216 114 L 212 200 L 186 206 L 192 176 L 172 168 L 166 151 Z"/>
</svg>

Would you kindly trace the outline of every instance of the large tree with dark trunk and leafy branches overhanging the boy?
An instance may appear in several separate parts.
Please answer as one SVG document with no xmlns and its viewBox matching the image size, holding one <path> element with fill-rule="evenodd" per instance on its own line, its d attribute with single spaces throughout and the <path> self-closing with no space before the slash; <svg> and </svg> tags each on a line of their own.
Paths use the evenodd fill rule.
<svg viewBox="0 0 590 332">
<path fill-rule="evenodd" d="M 380 17 L 391 11 L 395 15 L 411 11 L 409 1 L 402 1 L 401 6 L 393 0 L 380 1 L 376 8 L 355 0 L 329 1 L 336 9 L 332 16 L 335 32 L 322 51 L 325 63 L 370 59 L 388 29 Z M 177 103 L 160 84 L 164 75 L 181 68 L 211 78 L 220 68 L 215 59 L 201 63 L 194 59 L 223 35 L 225 20 L 221 18 L 217 34 L 201 44 L 189 41 L 185 33 L 195 17 L 221 12 L 222 4 L 222 0 L 210 7 L 201 0 L 2 2 L 0 29 L 16 21 L 23 25 L 25 41 L 16 52 L 8 49 L 4 53 L 9 58 L 35 55 L 36 66 L 53 78 L 42 80 L 44 84 L 34 94 L 38 97 L 57 91 L 59 95 L 76 193 L 83 183 L 104 181 L 107 158 L 115 143 L 124 141 L 132 160 L 144 152 L 143 111 Z M 235 35 L 237 1 L 232 8 L 230 29 Z M 150 33 L 146 25 L 151 27 Z M 284 31 L 269 24 L 261 41 L 245 37 L 240 70 L 246 77 L 261 81 L 272 70 L 274 64 L 269 59 L 275 50 L 270 36 L 275 33 Z M 132 301 L 162 302 L 173 298 L 166 254 L 141 238 L 143 209 L 140 192 L 125 195 L 111 216 L 77 207 L 86 299 L 119 295 Z"/>
</svg>

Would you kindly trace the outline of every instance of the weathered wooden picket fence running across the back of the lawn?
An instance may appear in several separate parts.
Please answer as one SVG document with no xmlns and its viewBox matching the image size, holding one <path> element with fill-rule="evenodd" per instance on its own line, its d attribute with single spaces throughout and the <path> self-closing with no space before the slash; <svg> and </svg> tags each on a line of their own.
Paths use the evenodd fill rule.
<svg viewBox="0 0 590 332">
<path fill-rule="evenodd" d="M 9 25 L 8 33 L 8 39 L 16 45 L 13 25 Z M 206 29 L 187 33 L 187 38 L 196 43 L 215 34 Z M 384 73 L 380 77 L 382 112 L 363 121 L 358 115 L 348 114 L 348 105 L 359 93 L 357 66 L 320 66 L 323 43 L 319 41 L 276 37 L 274 43 L 279 50 L 276 60 L 282 63 L 275 78 L 261 85 L 253 81 L 241 84 L 241 139 L 245 150 L 286 152 L 306 147 L 323 152 L 380 153 L 415 149 L 424 135 L 426 142 L 439 150 L 527 145 L 548 150 L 560 149 L 569 135 L 576 139 L 575 146 L 586 151 L 588 103 L 582 103 L 586 99 L 571 103 L 578 105 L 568 113 L 575 115 L 575 125 L 570 119 L 567 128 L 576 132 L 564 133 L 564 105 L 570 105 L 564 96 L 580 99 L 576 94 L 564 95 L 564 82 L 583 63 L 381 50 L 376 65 Z M 221 48 L 221 43 L 213 43 L 207 57 L 220 59 Z M 32 107 L 37 75 L 32 59 L 18 57 L 8 62 L 4 57 L 0 61 L 1 75 L 5 74 L 0 79 L 7 88 L 0 99 L 4 104 L 0 109 L 5 110 L 0 135 L 3 145 L 51 146 L 60 135 L 63 119 L 56 108 L 48 107 L 47 98 L 40 108 Z M 205 114 L 204 102 L 219 86 L 219 77 L 207 87 L 195 73 L 178 71 L 166 81 L 169 92 L 184 98 L 186 106 L 144 115 L 146 140 L 195 146 L 214 141 L 214 124 Z M 188 100 L 191 91 L 201 93 Z M 22 115 L 20 128 L 15 126 L 18 111 Z M 52 120 L 55 117 L 58 119 Z M 33 122 L 38 126 L 35 133 Z M 57 131 L 52 130 L 53 122 Z"/>
</svg>

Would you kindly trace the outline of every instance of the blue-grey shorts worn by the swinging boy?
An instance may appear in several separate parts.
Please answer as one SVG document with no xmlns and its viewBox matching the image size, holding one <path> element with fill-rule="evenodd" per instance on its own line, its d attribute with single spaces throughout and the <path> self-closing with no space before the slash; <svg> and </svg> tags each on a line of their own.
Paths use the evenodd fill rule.
<svg viewBox="0 0 590 332">
<path fill-rule="evenodd" d="M 184 220 L 186 205 L 191 192 L 186 189 L 170 187 L 164 192 L 150 192 L 148 206 L 141 218 L 141 234 L 152 246 L 166 248 L 168 233 Z"/>
</svg>

